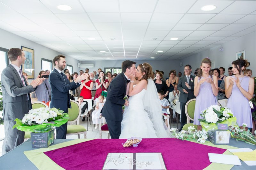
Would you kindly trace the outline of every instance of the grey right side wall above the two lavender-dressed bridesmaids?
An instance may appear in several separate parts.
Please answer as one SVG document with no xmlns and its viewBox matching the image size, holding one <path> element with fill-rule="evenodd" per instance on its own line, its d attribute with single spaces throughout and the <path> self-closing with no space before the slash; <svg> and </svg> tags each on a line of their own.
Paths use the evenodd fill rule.
<svg viewBox="0 0 256 170">
<path fill-rule="evenodd" d="M 224 51 L 219 51 L 223 48 Z M 203 51 L 196 55 L 189 56 L 181 62 L 190 64 L 192 71 L 194 72 L 201 64 L 203 58 L 208 57 L 215 64 L 215 68 L 224 67 L 226 69 L 225 75 L 228 75 L 228 68 L 231 67 L 231 63 L 236 60 L 236 52 L 245 50 L 245 59 L 250 62 L 248 69 L 252 70 L 252 76 L 255 76 L 255 64 L 256 64 L 256 34 L 255 32 L 247 34 L 243 37 L 237 38 L 232 41 L 228 41 L 222 45 Z M 183 71 L 184 67 L 180 68 Z"/>
</svg>

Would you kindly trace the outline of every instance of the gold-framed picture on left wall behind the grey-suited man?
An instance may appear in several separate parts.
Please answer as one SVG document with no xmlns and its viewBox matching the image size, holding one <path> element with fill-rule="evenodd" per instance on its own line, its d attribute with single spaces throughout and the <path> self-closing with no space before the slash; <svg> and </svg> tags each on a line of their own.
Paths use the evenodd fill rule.
<svg viewBox="0 0 256 170">
<path fill-rule="evenodd" d="M 21 49 L 24 51 L 26 57 L 25 63 L 22 64 L 22 72 L 27 73 L 29 79 L 34 79 L 34 50 L 23 46 L 21 46 Z"/>
</svg>

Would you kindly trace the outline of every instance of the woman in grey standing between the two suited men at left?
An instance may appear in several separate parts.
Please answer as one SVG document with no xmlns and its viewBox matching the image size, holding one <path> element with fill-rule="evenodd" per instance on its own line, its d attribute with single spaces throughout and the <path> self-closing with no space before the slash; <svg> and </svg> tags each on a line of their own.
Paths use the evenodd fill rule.
<svg viewBox="0 0 256 170">
<path fill-rule="evenodd" d="M 42 78 L 42 76 L 46 75 L 46 72 L 44 70 L 39 72 L 39 78 Z M 51 95 L 51 85 L 48 80 L 48 78 L 45 78 L 43 83 L 41 85 L 37 86 L 37 89 L 35 91 L 37 101 L 41 101 L 45 103 L 49 107 L 50 103 L 50 95 Z"/>
</svg>

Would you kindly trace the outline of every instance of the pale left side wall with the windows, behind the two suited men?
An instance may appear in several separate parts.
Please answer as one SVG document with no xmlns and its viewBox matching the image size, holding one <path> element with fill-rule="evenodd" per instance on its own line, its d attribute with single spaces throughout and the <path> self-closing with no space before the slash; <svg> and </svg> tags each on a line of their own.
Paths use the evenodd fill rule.
<svg viewBox="0 0 256 170">
<path fill-rule="evenodd" d="M 34 68 L 35 68 L 35 77 L 39 74 L 41 71 L 41 58 L 45 58 L 48 60 L 53 60 L 53 58 L 56 55 L 60 55 L 60 52 L 54 51 L 50 48 L 44 47 L 40 44 L 37 44 L 33 41 L 30 41 L 28 39 L 22 38 L 16 34 L 7 32 L 3 29 L 0 29 L 0 47 L 2 48 L 21 48 L 21 46 L 31 48 L 35 50 L 35 61 L 34 61 Z M 73 66 L 73 72 L 79 71 L 77 67 L 78 60 L 66 56 L 66 61 L 68 65 Z M 52 64 L 52 68 L 54 68 L 54 65 Z"/>
</svg>

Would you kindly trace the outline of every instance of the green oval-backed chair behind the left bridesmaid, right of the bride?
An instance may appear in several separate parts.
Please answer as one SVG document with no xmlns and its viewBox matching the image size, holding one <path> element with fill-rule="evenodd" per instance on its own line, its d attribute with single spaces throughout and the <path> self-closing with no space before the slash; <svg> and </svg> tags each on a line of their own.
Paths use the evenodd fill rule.
<svg viewBox="0 0 256 170">
<path fill-rule="evenodd" d="M 187 116 L 187 124 L 185 124 L 182 128 L 182 130 L 187 130 L 189 126 L 194 126 L 195 129 L 197 129 L 197 125 L 194 125 L 193 123 L 190 123 L 191 121 L 194 121 L 194 113 L 195 113 L 195 106 L 196 106 L 196 99 L 188 100 L 188 102 L 185 105 L 185 113 Z"/>
</svg>

